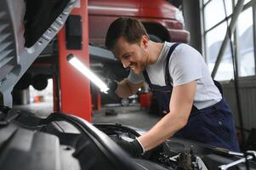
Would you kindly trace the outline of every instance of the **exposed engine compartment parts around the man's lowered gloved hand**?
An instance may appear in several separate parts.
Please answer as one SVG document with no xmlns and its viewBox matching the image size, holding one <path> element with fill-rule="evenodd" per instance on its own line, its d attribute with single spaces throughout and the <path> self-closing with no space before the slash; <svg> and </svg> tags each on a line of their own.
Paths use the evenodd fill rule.
<svg viewBox="0 0 256 170">
<path fill-rule="evenodd" d="M 126 139 L 128 141 L 139 137 L 139 133 L 120 124 L 96 124 L 101 131 L 111 139 Z M 142 132 L 143 133 L 143 132 Z M 250 152 L 250 151 L 249 151 Z M 155 162 L 167 169 L 221 169 L 220 166 L 239 160 L 240 154 L 221 148 L 213 148 L 187 139 L 171 138 L 153 150 L 145 152 L 139 159 Z M 136 159 L 138 160 L 138 159 Z M 248 163 L 250 169 L 255 168 L 255 163 Z M 225 166 L 223 166 L 225 167 Z M 244 165 L 233 167 L 244 169 Z M 232 169 L 232 168 L 230 168 Z"/>
</svg>

